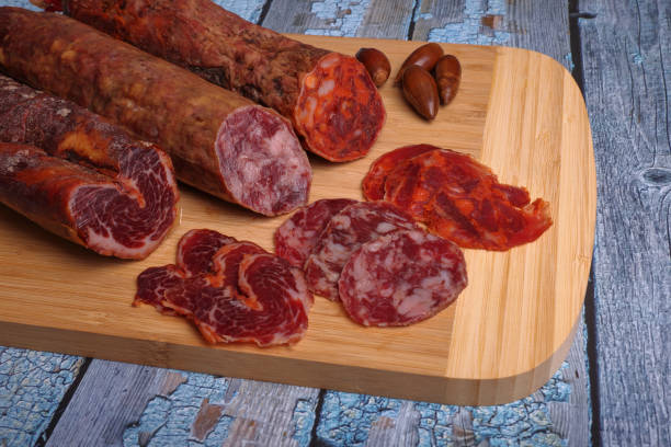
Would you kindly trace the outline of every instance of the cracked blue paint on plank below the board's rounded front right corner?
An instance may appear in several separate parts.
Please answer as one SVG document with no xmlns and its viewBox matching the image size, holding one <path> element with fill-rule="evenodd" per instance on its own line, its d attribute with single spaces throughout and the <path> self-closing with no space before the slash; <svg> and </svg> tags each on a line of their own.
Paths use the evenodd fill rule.
<svg viewBox="0 0 671 447">
<path fill-rule="evenodd" d="M 386 446 L 564 446 L 566 439 L 554 427 L 548 403 L 569 404 L 571 388 L 562 376 L 567 368 L 565 363 L 532 396 L 496 406 L 456 406 L 327 391 L 317 440 L 329 446 L 365 446 L 373 444 L 373 438 L 375 445 Z M 413 421 L 403 422 L 407 417 Z M 402 426 L 413 429 L 403 431 Z"/>
</svg>

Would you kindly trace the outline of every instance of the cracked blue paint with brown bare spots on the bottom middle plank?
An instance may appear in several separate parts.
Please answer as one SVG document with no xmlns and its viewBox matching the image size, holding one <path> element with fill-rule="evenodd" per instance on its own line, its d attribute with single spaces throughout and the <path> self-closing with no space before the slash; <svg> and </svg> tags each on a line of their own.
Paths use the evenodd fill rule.
<svg viewBox="0 0 671 447">
<path fill-rule="evenodd" d="M 124 446 L 309 444 L 318 390 L 175 374 L 183 382 L 148 402 L 139 420 L 125 429 Z"/>
</svg>

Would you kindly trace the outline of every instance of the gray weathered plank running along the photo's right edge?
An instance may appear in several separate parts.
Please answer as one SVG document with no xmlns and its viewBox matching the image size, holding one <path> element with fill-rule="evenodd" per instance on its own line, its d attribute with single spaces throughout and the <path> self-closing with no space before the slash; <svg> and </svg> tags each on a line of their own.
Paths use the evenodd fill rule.
<svg viewBox="0 0 671 447">
<path fill-rule="evenodd" d="M 671 3 L 580 1 L 603 445 L 671 445 Z"/>
</svg>

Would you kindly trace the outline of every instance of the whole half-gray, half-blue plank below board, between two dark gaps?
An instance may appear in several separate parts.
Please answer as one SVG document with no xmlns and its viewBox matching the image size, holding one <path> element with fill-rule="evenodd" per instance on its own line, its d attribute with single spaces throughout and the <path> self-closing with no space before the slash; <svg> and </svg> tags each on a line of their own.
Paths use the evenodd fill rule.
<svg viewBox="0 0 671 447">
<path fill-rule="evenodd" d="M 94 359 L 50 446 L 306 446 L 319 390 Z"/>
</svg>

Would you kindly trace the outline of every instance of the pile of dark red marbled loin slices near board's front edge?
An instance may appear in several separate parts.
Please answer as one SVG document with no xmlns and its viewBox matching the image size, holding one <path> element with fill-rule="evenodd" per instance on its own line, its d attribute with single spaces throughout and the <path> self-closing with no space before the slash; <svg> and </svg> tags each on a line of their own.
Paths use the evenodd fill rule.
<svg viewBox="0 0 671 447">
<path fill-rule="evenodd" d="M 191 319 L 209 343 L 271 346 L 305 335 L 312 295 L 300 270 L 259 245 L 192 230 L 180 241 L 177 265 L 138 276 L 134 305 L 140 303 Z"/>
</svg>

